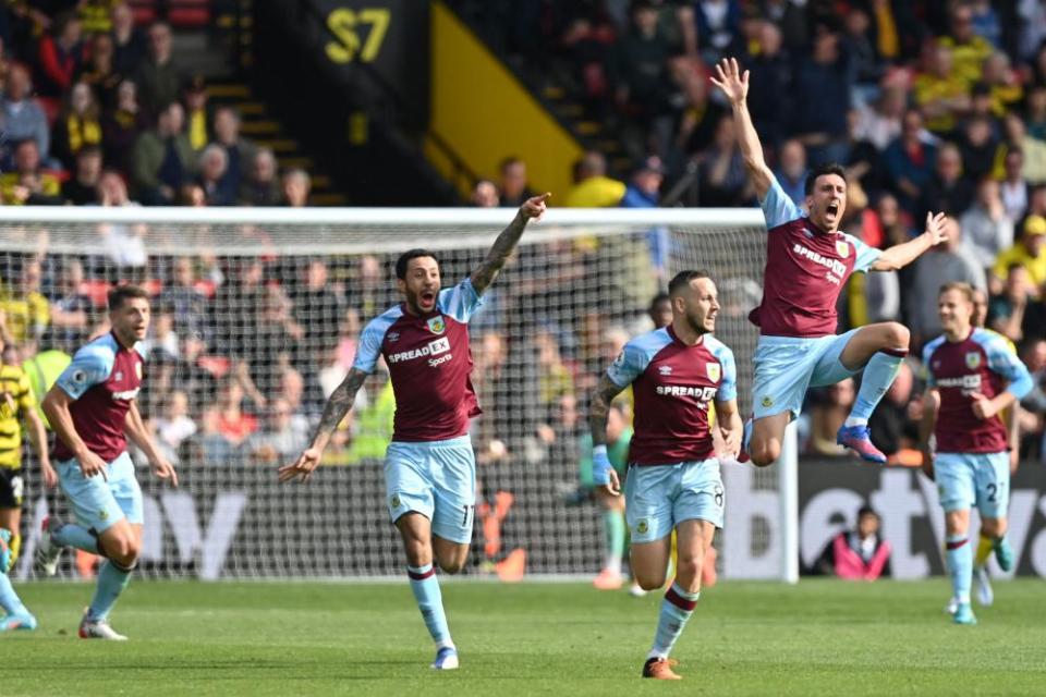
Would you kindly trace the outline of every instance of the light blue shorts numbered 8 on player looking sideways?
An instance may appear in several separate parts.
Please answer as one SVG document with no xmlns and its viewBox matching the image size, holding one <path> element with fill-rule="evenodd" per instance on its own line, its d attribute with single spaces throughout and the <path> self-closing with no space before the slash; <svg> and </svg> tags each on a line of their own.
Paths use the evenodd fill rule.
<svg viewBox="0 0 1046 697">
<path fill-rule="evenodd" d="M 722 527 L 723 489 L 715 457 L 676 465 L 629 468 L 624 511 L 633 542 L 653 542 L 683 521 Z"/>
</svg>

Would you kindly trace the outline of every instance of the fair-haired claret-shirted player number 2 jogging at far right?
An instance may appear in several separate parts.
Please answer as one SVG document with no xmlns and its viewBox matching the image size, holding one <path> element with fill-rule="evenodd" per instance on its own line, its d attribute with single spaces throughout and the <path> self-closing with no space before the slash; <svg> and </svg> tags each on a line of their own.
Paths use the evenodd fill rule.
<svg viewBox="0 0 1046 697">
<path fill-rule="evenodd" d="M 973 326 L 973 289 L 946 283 L 937 298 L 941 337 L 923 348 L 926 399 L 921 441 L 923 467 L 937 481 L 945 509 L 946 555 L 957 624 L 976 624 L 970 609 L 973 550 L 970 509 L 981 512 L 982 546 L 1004 571 L 1013 567 L 1006 539 L 1010 496 L 1010 429 L 1000 413 L 1032 391 L 1027 368 L 1006 339 Z M 929 436 L 936 440 L 932 452 Z"/>
</svg>

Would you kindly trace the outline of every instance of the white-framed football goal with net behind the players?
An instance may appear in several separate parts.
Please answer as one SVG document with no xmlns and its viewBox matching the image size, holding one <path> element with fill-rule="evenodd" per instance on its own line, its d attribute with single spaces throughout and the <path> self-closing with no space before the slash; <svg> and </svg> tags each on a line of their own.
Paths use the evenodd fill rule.
<svg viewBox="0 0 1046 697">
<path fill-rule="evenodd" d="M 396 257 L 437 252 L 447 288 L 514 215 L 2 207 L 0 277 L 7 296 L 20 296 L 25 269 L 40 260 L 33 292 L 52 311 L 20 330 L 22 358 L 85 341 L 111 283 L 155 294 L 141 404 L 178 458 L 183 487 L 158 486 L 138 463 L 147 575 L 390 576 L 401 564 L 380 466 L 393 408 L 387 375 L 364 387 L 313 481 L 280 486 L 276 463 L 311 432 L 362 326 L 399 301 Z M 706 269 L 719 288 L 717 335 L 737 356 L 747 414 L 757 338 L 747 314 L 762 294 L 765 230 L 755 209 L 552 208 L 532 223 L 472 322 L 485 413 L 472 426 L 479 498 L 467 575 L 496 575 L 510 558 L 528 575 L 598 571 L 598 509 L 572 496 L 588 393 L 620 344 L 652 327 L 646 308 L 679 270 Z M 59 311 L 70 307 L 83 313 Z M 723 467 L 727 577 L 798 579 L 794 437 L 788 443 L 774 467 Z M 36 477 L 28 492 L 22 577 L 40 516 L 64 512 Z M 61 573 L 75 575 L 73 560 Z"/>
</svg>

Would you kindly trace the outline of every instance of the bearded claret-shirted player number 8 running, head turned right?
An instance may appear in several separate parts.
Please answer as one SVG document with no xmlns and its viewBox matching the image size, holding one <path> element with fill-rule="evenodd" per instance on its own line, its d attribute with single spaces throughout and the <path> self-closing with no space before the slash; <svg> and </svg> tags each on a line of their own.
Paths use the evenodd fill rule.
<svg viewBox="0 0 1046 697">
<path fill-rule="evenodd" d="M 714 456 L 708 408 L 715 402 L 727 453 L 741 442 L 733 353 L 716 340 L 716 284 L 703 271 L 683 271 L 668 286 L 672 322 L 636 337 L 592 396 L 593 477 L 617 496 L 618 474 L 607 457 L 607 413 L 632 386 L 635 432 L 629 451 L 625 511 L 632 572 L 646 590 L 665 585 L 672 529 L 678 537 L 676 579 L 661 601 L 654 646 L 643 676 L 679 680 L 668 655 L 701 595 L 701 568 L 722 527 L 722 479 Z"/>
</svg>

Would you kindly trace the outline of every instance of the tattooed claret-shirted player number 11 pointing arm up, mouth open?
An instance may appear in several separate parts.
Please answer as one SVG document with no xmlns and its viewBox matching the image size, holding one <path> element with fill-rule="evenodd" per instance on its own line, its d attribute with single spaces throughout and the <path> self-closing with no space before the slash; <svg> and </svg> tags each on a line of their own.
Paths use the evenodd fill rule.
<svg viewBox="0 0 1046 697">
<path fill-rule="evenodd" d="M 458 651 L 433 561 L 447 573 L 461 571 L 476 508 L 476 465 L 467 432 L 469 419 L 479 407 L 469 380 L 469 318 L 483 304 L 484 291 L 515 249 L 526 223 L 545 212 L 548 197 L 524 203 L 484 262 L 453 288 L 440 290 L 435 254 L 412 249 L 399 258 L 397 285 L 405 302 L 364 328 L 352 369 L 327 401 L 312 444 L 279 472 L 280 481 L 308 479 L 356 391 L 378 356 L 385 356 L 397 405 L 386 453 L 386 503 L 403 538 L 411 589 L 436 641 L 431 667 L 439 670 L 458 668 Z"/>
</svg>

